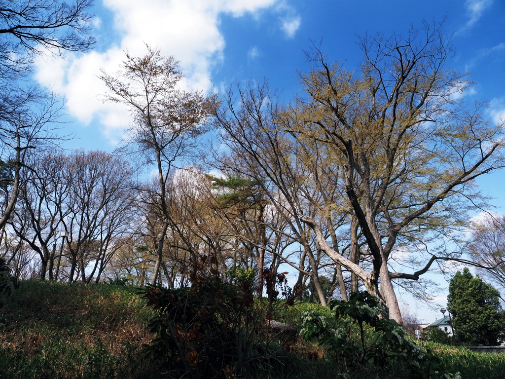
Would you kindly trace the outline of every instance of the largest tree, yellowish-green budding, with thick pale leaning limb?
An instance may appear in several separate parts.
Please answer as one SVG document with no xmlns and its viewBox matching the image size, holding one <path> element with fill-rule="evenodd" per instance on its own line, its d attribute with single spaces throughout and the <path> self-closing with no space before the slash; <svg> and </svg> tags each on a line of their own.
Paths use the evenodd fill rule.
<svg viewBox="0 0 505 379">
<path fill-rule="evenodd" d="M 328 246 L 311 217 L 300 219 L 326 254 L 360 277 L 401 322 L 392 280 L 418 280 L 433 262 L 459 258 L 428 251 L 423 262 L 415 247 L 451 238 L 465 211 L 483 204 L 473 183 L 503 166 L 503 124 L 484 120 L 483 104 L 453 96 L 469 82 L 447 67 L 451 53 L 441 26 L 425 23 L 388 39 L 365 37 L 361 46 L 365 59 L 355 72 L 329 64 L 314 48 L 314 67 L 301 75 L 307 97 L 286 112 L 283 127 L 327 146 L 328 164 L 342 167 L 371 270 Z M 399 246 L 417 256 L 413 272 L 395 272 L 392 256 Z"/>
</svg>

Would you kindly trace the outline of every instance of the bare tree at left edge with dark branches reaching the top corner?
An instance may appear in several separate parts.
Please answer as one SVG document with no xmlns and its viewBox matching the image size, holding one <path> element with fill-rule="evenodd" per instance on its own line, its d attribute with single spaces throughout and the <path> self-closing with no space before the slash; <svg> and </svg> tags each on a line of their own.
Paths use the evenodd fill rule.
<svg viewBox="0 0 505 379">
<path fill-rule="evenodd" d="M 55 96 L 33 84 L 34 58 L 87 50 L 93 43 L 86 35 L 91 5 L 91 0 L 0 1 L 0 162 L 11 168 L 11 175 L 2 178 L 10 187 L 3 193 L 0 230 L 14 210 L 29 150 L 57 141 L 61 107 Z"/>
</svg>

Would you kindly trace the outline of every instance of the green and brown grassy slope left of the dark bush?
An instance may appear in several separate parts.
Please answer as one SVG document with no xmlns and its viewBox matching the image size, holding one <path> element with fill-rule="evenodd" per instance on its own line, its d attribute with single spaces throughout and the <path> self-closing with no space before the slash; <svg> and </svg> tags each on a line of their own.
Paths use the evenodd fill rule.
<svg viewBox="0 0 505 379">
<path fill-rule="evenodd" d="M 154 311 L 134 288 L 22 281 L 0 309 L 0 378 L 141 377 Z"/>
</svg>

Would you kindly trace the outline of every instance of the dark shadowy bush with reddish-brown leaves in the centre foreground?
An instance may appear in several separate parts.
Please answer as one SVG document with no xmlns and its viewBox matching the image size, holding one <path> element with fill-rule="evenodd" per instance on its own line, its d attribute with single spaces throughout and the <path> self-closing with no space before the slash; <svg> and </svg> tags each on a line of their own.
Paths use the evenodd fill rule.
<svg viewBox="0 0 505 379">
<path fill-rule="evenodd" d="M 282 338 L 269 333 L 266 317 L 272 305 L 255 301 L 251 281 L 193 279 L 191 288 L 144 292 L 159 311 L 149 324 L 156 337 L 146 354 L 162 371 L 173 377 L 245 379 L 299 372 Z"/>
</svg>

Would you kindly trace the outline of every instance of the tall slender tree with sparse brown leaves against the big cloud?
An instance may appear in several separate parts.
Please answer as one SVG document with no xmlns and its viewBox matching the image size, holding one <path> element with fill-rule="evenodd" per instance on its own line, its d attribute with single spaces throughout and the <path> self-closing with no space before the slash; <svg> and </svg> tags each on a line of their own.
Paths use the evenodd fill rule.
<svg viewBox="0 0 505 379">
<path fill-rule="evenodd" d="M 164 58 L 159 50 L 148 46 L 147 50 L 141 58 L 126 53 L 123 69 L 114 75 L 102 71 L 100 79 L 109 90 L 105 101 L 125 104 L 131 112 L 132 124 L 119 153 L 135 154 L 142 164 L 156 167 L 157 197 L 163 220 L 151 280 L 156 283 L 165 235 L 170 226 L 167 182 L 173 168 L 194 151 L 195 138 L 207 130 L 204 122 L 214 101 L 200 92 L 180 89 L 183 75 L 175 59 Z"/>
</svg>

